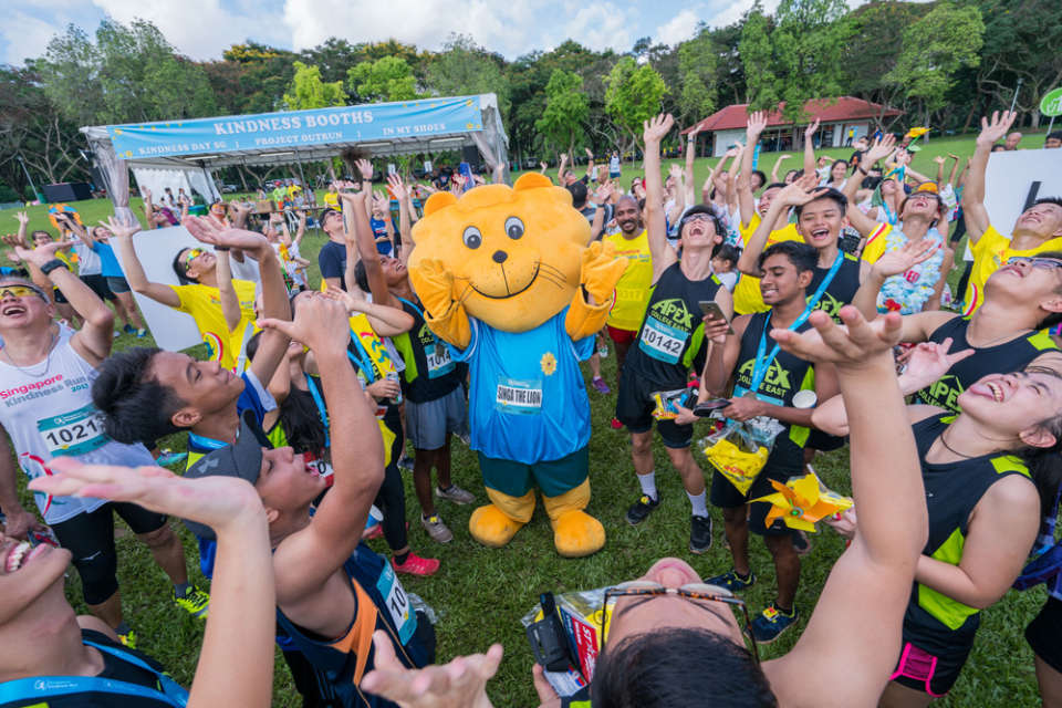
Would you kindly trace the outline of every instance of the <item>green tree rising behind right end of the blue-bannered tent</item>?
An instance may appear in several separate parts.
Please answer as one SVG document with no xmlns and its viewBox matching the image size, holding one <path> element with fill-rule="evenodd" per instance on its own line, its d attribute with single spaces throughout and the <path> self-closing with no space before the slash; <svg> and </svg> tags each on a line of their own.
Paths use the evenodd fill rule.
<svg viewBox="0 0 1062 708">
<path fill-rule="evenodd" d="M 491 54 L 465 34 L 451 34 L 428 65 L 427 84 L 439 96 L 479 93 L 498 95 L 498 110 L 508 118 L 511 106 L 504 60 Z"/>
</svg>

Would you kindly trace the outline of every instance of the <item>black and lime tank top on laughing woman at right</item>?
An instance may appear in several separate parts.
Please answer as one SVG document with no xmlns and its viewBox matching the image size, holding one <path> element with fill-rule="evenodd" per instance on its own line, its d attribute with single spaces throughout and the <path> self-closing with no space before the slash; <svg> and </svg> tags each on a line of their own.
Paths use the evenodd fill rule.
<svg viewBox="0 0 1062 708">
<path fill-rule="evenodd" d="M 1024 462 L 1012 455 L 986 455 L 968 460 L 934 465 L 926 454 L 955 416 L 940 415 L 920 420 L 913 426 L 918 459 L 922 461 L 922 481 L 926 488 L 929 511 L 929 539 L 923 554 L 944 563 L 958 565 L 969 531 L 974 508 L 997 481 L 1011 475 L 1030 479 Z M 1032 480 L 1030 479 L 1030 482 Z M 904 636 L 917 646 L 944 650 L 954 643 L 952 633 L 972 636 L 980 623 L 980 611 L 915 583 L 904 616 Z"/>
</svg>

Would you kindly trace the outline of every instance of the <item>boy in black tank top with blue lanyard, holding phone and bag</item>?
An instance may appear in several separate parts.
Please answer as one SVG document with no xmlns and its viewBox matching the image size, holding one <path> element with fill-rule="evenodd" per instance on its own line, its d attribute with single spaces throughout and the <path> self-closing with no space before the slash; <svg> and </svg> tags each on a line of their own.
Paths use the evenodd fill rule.
<svg viewBox="0 0 1062 708">
<path fill-rule="evenodd" d="M 805 243 L 784 241 L 769 248 L 761 257 L 760 291 L 771 305 L 768 312 L 742 315 L 735 320 L 736 335 L 728 337 L 721 352 L 714 351 L 707 366 L 711 377 L 709 389 L 721 392 L 726 381 L 735 377 L 733 398 L 722 415 L 733 420 L 756 417 L 774 418 L 782 430 L 774 439 L 770 456 L 752 487 L 739 491 L 722 475 L 711 480 L 711 503 L 722 508 L 727 541 L 733 569 L 706 580 L 707 583 L 740 591 L 756 582 L 749 565 L 749 531 L 763 535 L 774 560 L 778 596 L 752 623 L 757 642 L 770 643 L 796 621 L 796 586 L 800 582 L 800 556 L 793 548 L 789 527 L 780 521 L 767 525 L 767 502 L 749 503 L 750 499 L 773 491 L 771 480 L 784 482 L 803 471 L 803 449 L 811 427 L 815 397 L 825 399 L 837 392 L 831 366 L 812 366 L 810 362 L 775 347 L 772 329 L 802 332 L 810 327 L 808 316 L 816 303 L 806 301 L 813 278 L 815 251 Z M 812 398 L 811 405 L 794 404 L 799 392 Z M 813 394 L 811 392 L 814 392 Z"/>
</svg>

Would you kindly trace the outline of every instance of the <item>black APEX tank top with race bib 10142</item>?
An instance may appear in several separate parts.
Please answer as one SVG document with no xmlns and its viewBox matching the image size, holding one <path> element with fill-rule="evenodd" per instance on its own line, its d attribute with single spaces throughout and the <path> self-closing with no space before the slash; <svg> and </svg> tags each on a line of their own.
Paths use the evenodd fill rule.
<svg viewBox="0 0 1062 708">
<path fill-rule="evenodd" d="M 669 266 L 653 285 L 638 341 L 625 366 L 660 388 L 681 388 L 705 340 L 701 300 L 715 300 L 721 284 L 715 275 L 689 280 L 679 262 Z"/>
</svg>

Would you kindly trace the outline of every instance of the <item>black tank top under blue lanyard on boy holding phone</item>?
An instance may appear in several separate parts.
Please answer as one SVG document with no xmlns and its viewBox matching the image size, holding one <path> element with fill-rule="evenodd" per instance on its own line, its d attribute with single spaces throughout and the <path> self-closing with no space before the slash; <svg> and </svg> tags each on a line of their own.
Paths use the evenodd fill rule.
<svg viewBox="0 0 1062 708">
<path fill-rule="evenodd" d="M 741 336 L 741 348 L 738 351 L 738 367 L 735 373 L 733 385 L 735 396 L 745 395 L 752 385 L 752 373 L 756 369 L 760 337 L 763 334 L 763 327 L 769 326 L 768 319 L 770 315 L 770 310 L 750 315 L 749 324 Z M 796 331 L 804 332 L 809 329 L 811 329 L 811 324 L 804 322 Z M 774 340 L 771 339 L 770 331 L 764 337 L 764 343 L 767 346 L 763 355 L 767 356 L 774 348 Z M 812 363 L 779 350 L 756 393 L 761 400 L 791 407 L 793 395 L 798 391 L 814 391 L 814 388 L 815 369 Z M 810 430 L 803 426 L 794 426 L 788 423 L 782 425 L 785 426 L 785 429 L 779 433 L 774 439 L 774 447 L 771 449 L 768 465 L 799 471 L 803 468 L 803 448 Z"/>
</svg>

